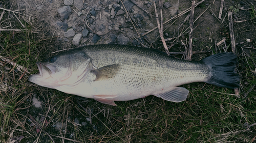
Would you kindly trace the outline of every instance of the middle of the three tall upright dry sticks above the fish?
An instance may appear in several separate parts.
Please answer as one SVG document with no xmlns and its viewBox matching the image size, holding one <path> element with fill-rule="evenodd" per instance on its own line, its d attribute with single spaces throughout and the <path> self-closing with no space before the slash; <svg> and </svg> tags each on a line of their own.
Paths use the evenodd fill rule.
<svg viewBox="0 0 256 143">
<path fill-rule="evenodd" d="M 192 2 L 192 5 L 191 5 L 191 14 L 190 14 L 190 22 L 189 22 L 189 25 L 190 25 L 190 32 L 189 32 L 189 47 L 187 49 L 187 56 L 186 56 L 186 60 L 188 61 L 191 61 L 191 58 L 192 58 L 192 48 L 193 48 L 193 25 L 194 25 L 194 14 L 195 14 L 195 4 L 196 4 L 196 1 L 193 1 Z"/>
</svg>

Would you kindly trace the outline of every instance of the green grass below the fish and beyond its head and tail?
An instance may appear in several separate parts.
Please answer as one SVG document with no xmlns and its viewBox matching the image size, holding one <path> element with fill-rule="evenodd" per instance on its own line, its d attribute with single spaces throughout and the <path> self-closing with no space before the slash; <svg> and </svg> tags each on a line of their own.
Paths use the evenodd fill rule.
<svg viewBox="0 0 256 143">
<path fill-rule="evenodd" d="M 33 74 L 38 72 L 35 62 L 48 56 L 51 43 L 27 30 L 2 32 L 0 55 Z M 239 54 L 240 96 L 232 89 L 191 83 L 183 85 L 190 91 L 184 102 L 148 96 L 116 102 L 118 106 L 39 87 L 27 80 L 30 74 L 24 68 L 17 70 L 0 59 L 0 142 L 22 136 L 21 142 L 60 142 L 60 137 L 80 142 L 253 142 L 256 126 L 250 125 L 256 123 L 256 54 L 249 55 L 245 51 Z M 41 107 L 32 105 L 33 97 Z M 42 117 L 49 124 L 40 121 Z M 56 123 L 63 127 L 56 130 Z"/>
</svg>

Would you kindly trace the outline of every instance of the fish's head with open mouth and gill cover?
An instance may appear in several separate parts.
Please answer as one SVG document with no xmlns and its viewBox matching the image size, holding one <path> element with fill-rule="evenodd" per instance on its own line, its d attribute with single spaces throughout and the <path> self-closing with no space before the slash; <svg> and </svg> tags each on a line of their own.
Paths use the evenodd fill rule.
<svg viewBox="0 0 256 143">
<path fill-rule="evenodd" d="M 71 51 L 36 62 L 39 74 L 29 76 L 29 81 L 56 89 L 61 85 L 72 85 L 93 70 L 89 56 L 83 51 Z"/>
</svg>

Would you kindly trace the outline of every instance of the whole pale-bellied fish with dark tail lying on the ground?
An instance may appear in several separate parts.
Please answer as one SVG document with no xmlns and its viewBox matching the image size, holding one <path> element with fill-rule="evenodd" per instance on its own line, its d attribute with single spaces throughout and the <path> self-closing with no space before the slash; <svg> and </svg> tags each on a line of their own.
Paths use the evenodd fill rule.
<svg viewBox="0 0 256 143">
<path fill-rule="evenodd" d="M 200 61 L 185 61 L 153 49 L 127 45 L 90 45 L 74 48 L 36 62 L 39 74 L 28 80 L 42 87 L 101 103 L 116 105 L 149 95 L 166 101 L 184 101 L 183 84 L 206 82 L 239 88 L 237 55 L 213 54 Z"/>
</svg>

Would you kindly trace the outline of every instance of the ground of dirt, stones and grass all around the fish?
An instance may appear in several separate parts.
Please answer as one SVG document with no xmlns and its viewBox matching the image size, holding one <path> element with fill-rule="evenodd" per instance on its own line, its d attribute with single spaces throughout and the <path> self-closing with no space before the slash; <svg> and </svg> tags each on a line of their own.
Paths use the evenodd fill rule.
<svg viewBox="0 0 256 143">
<path fill-rule="evenodd" d="M 238 55 L 236 70 L 241 78 L 238 91 L 191 83 L 183 85 L 190 91 L 184 102 L 148 96 L 111 106 L 39 87 L 27 80 L 29 75 L 38 73 L 35 62 L 76 46 L 112 42 L 165 51 L 158 28 L 153 30 L 158 26 L 155 2 L 160 17 L 158 1 L 133 2 L 140 8 L 129 0 L 75 1 L 70 5 L 70 15 L 64 14 L 65 19 L 58 12 L 65 6 L 62 0 L 0 1 L 0 142 L 255 141 L 253 0 L 224 1 L 221 19 L 221 2 L 204 1 L 195 7 L 193 19 L 192 60 L 198 61 L 213 53 L 232 51 L 227 16 L 228 11 L 232 12 L 236 44 L 233 52 Z M 190 17 L 184 19 L 190 14 L 191 1 L 163 1 L 166 2 L 170 7 L 162 8 L 163 23 L 166 22 L 163 37 L 170 54 L 185 59 Z M 116 10 L 113 17 L 112 8 Z M 74 35 L 65 37 L 69 29 L 74 35 L 83 34 L 76 41 L 78 44 L 74 45 Z"/>
</svg>

